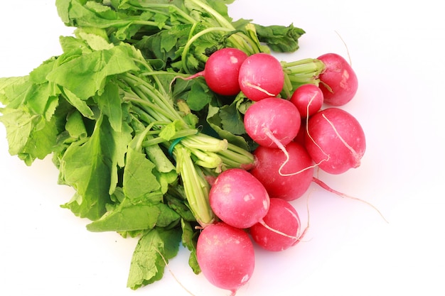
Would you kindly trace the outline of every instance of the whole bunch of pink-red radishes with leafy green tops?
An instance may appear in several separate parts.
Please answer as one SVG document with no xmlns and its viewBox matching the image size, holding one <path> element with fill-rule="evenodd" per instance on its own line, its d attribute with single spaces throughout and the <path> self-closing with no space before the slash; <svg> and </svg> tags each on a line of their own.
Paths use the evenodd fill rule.
<svg viewBox="0 0 445 296">
<path fill-rule="evenodd" d="M 0 78 L 9 152 L 52 155 L 62 205 L 89 231 L 138 237 L 127 286 L 163 276 L 181 243 L 188 265 L 232 295 L 255 247 L 303 239 L 292 202 L 314 175 L 358 168 L 363 128 L 341 109 L 358 89 L 335 53 L 279 61 L 305 32 L 228 16 L 210 0 L 58 0 L 73 36 L 24 77 Z M 308 210 L 309 211 L 309 210 Z M 309 212 L 308 212 L 309 217 Z"/>
</svg>

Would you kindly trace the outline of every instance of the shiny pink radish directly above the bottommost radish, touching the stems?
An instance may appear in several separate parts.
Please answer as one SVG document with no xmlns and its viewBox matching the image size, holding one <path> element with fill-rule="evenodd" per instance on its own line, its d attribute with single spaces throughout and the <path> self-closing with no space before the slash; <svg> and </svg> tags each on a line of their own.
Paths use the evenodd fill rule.
<svg viewBox="0 0 445 296">
<path fill-rule="evenodd" d="M 232 168 L 220 173 L 210 188 L 210 207 L 230 226 L 247 229 L 267 214 L 269 194 L 250 172 Z"/>
</svg>

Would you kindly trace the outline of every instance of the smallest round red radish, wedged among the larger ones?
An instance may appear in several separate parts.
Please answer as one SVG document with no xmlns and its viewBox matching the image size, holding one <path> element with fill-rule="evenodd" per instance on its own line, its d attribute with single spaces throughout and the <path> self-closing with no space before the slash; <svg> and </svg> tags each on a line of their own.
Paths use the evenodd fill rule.
<svg viewBox="0 0 445 296">
<path fill-rule="evenodd" d="M 299 109 L 301 117 L 306 118 L 323 106 L 323 92 L 315 84 L 303 84 L 295 89 L 290 101 Z"/>
</svg>

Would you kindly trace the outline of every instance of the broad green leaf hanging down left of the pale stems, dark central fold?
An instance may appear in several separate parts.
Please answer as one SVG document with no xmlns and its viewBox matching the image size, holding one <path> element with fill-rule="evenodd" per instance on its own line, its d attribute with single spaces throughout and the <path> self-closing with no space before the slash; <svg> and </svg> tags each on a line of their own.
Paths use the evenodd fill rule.
<svg viewBox="0 0 445 296">
<path fill-rule="evenodd" d="M 131 131 L 126 126 L 117 133 L 104 116 L 100 116 L 90 138 L 67 148 L 60 160 L 61 180 L 77 194 L 63 207 L 92 221 L 100 219 L 117 185 L 117 165 L 122 163 L 132 138 Z"/>
</svg>

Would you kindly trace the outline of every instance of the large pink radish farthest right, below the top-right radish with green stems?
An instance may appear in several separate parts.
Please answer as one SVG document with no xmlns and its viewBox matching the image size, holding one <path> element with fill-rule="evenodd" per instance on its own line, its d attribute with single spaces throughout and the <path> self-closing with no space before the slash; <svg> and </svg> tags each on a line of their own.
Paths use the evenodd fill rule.
<svg viewBox="0 0 445 296">
<path fill-rule="evenodd" d="M 331 174 L 358 168 L 366 148 L 365 133 L 357 119 L 334 107 L 309 118 L 305 143 L 313 161 Z"/>
</svg>

